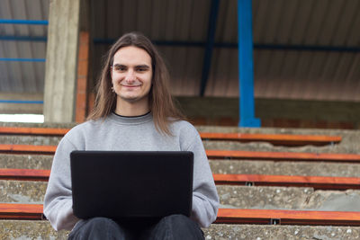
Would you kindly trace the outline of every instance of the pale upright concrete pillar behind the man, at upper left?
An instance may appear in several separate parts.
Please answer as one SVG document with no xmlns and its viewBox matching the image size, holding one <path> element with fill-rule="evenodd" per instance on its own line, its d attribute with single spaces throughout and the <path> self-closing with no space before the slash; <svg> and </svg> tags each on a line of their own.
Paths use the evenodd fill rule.
<svg viewBox="0 0 360 240">
<path fill-rule="evenodd" d="M 76 65 L 81 0 L 49 1 L 44 118 L 72 122 L 76 107 Z"/>
</svg>

